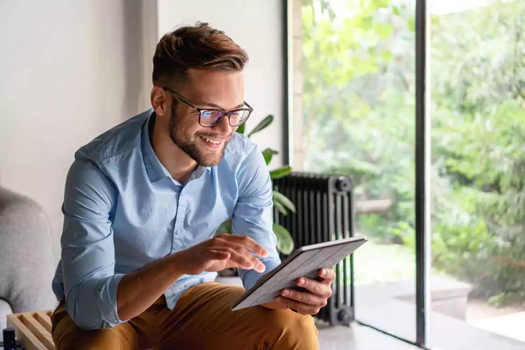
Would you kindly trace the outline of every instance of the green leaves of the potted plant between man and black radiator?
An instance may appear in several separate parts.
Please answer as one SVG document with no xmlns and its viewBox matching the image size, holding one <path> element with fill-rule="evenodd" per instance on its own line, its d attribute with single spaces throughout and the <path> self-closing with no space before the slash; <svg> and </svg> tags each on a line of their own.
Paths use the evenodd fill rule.
<svg viewBox="0 0 525 350">
<path fill-rule="evenodd" d="M 273 121 L 274 121 L 273 115 L 270 114 L 266 116 L 266 118 L 263 119 L 259 124 L 257 124 L 257 126 L 253 130 L 251 130 L 247 134 L 247 136 L 251 137 L 253 134 L 266 129 Z M 237 129 L 237 132 L 239 134 L 244 134 L 245 124 L 239 126 L 239 128 Z M 271 158 L 274 155 L 279 154 L 279 152 L 277 152 L 276 150 L 267 148 L 264 151 L 262 151 L 262 154 L 264 155 L 266 165 L 268 165 L 271 161 Z M 277 179 L 277 178 L 281 178 L 283 176 L 288 175 L 290 172 L 291 172 L 291 167 L 289 165 L 285 165 L 277 169 L 271 170 L 270 177 L 271 179 Z M 295 205 L 293 205 L 290 199 L 288 199 L 282 193 L 277 192 L 276 190 L 274 190 L 274 207 L 277 210 L 279 210 L 279 212 L 282 215 L 287 215 L 288 210 L 291 211 L 292 213 L 296 212 Z M 225 232 L 230 233 L 230 234 L 232 233 L 232 220 L 227 220 L 223 222 L 223 224 L 220 225 L 216 231 L 217 234 L 225 233 Z M 293 250 L 293 239 L 290 235 L 290 232 L 285 227 L 279 224 L 276 224 L 275 222 L 274 222 L 274 232 L 275 232 L 275 235 L 277 236 L 277 250 L 281 252 L 282 254 L 290 254 Z"/>
</svg>

